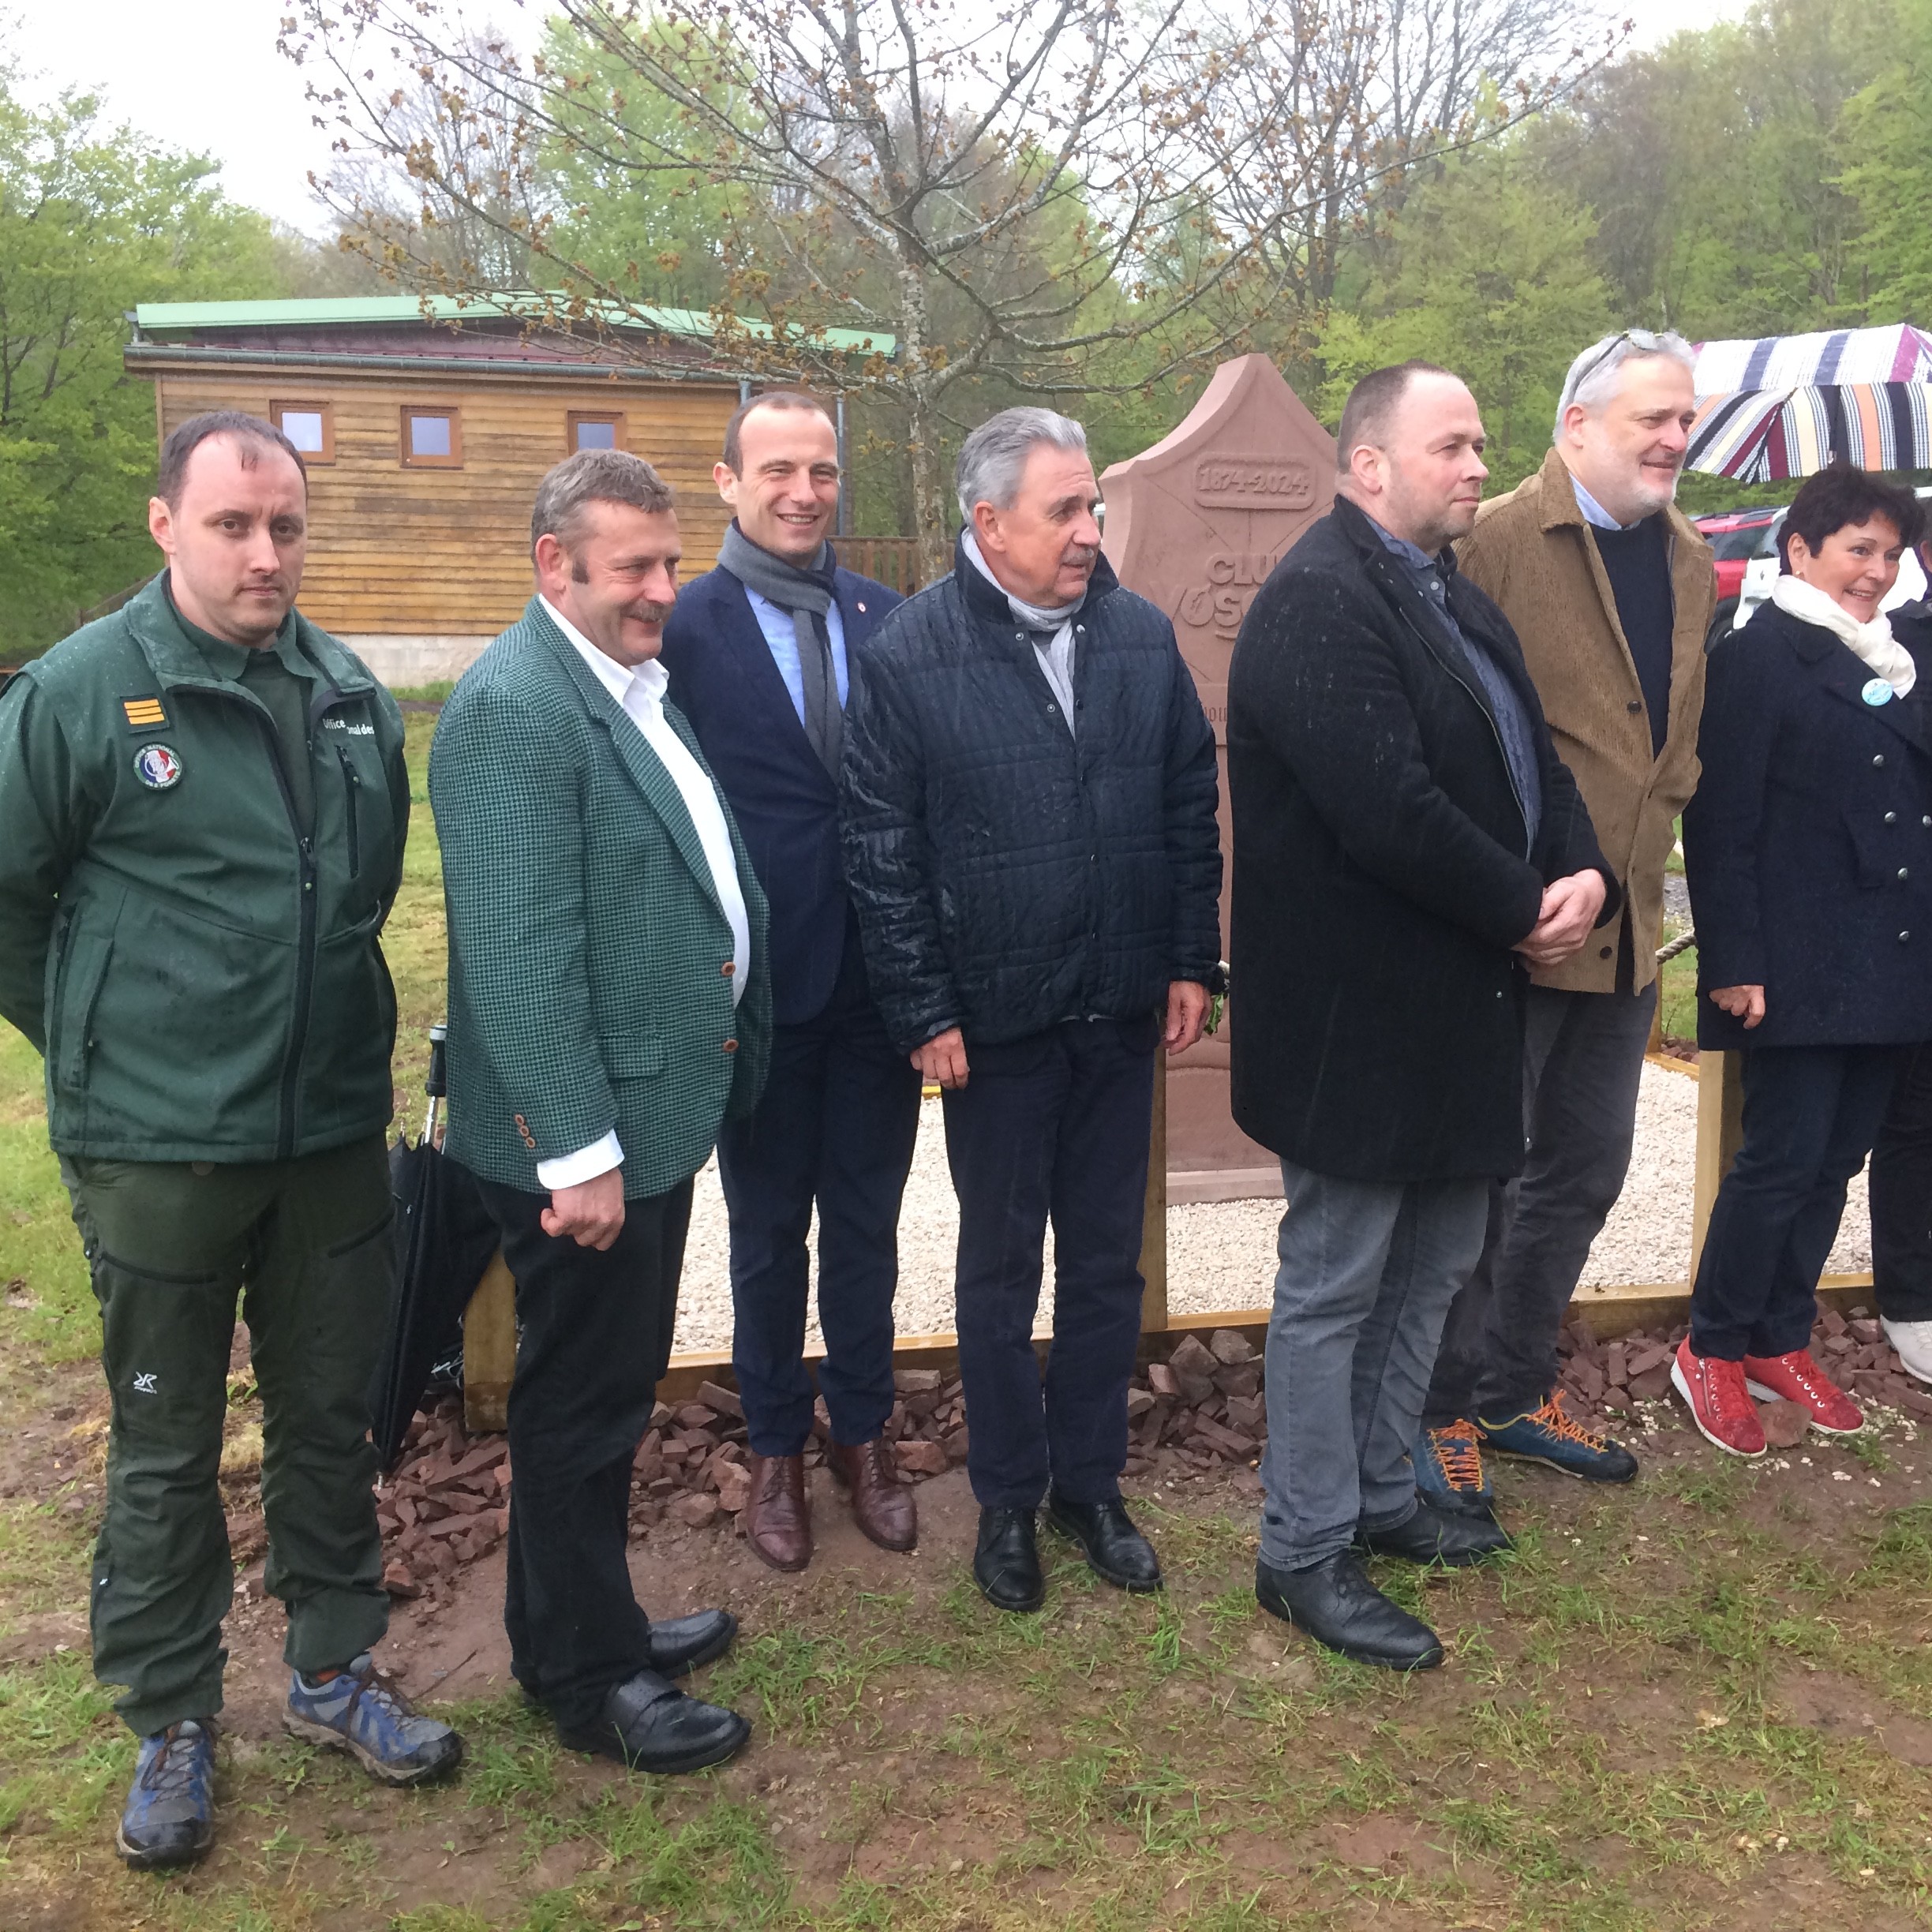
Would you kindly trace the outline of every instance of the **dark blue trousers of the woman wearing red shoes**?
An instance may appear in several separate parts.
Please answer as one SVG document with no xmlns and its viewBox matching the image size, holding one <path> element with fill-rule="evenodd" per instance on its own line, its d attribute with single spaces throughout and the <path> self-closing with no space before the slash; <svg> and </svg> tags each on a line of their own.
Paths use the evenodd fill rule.
<svg viewBox="0 0 1932 1932">
<path fill-rule="evenodd" d="M 1690 1289 L 1690 1347 L 1725 1362 L 1810 1345 L 1845 1186 L 1903 1047 L 1747 1047 L 1745 1142 L 1718 1188 Z"/>
</svg>

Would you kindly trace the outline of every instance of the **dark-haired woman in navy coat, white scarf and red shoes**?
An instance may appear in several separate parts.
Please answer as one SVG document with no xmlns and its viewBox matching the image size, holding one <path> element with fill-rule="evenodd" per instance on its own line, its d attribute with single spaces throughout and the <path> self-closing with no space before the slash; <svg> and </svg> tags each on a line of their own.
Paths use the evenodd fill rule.
<svg viewBox="0 0 1932 1932">
<path fill-rule="evenodd" d="M 1862 471 L 1812 477 L 1772 601 L 1710 657 L 1685 869 L 1698 1045 L 1743 1051 L 1745 1144 L 1671 1379 L 1733 1455 L 1764 1453 L 1752 1395 L 1864 1426 L 1806 1345 L 1845 1186 L 1932 1037 L 1932 665 L 1880 612 L 1920 522 Z"/>
</svg>

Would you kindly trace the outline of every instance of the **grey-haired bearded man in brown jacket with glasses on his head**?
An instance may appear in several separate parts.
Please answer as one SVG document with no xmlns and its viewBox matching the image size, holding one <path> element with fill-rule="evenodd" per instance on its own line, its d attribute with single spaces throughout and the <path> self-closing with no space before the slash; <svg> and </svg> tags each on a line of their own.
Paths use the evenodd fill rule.
<svg viewBox="0 0 1932 1932">
<path fill-rule="evenodd" d="M 1675 506 L 1692 354 L 1633 328 L 1571 363 L 1544 468 L 1482 506 L 1457 547 L 1501 605 L 1577 779 L 1625 910 L 1526 1005 L 1528 1159 L 1492 1192 L 1482 1260 L 1449 1310 L 1416 1441 L 1416 1484 L 1486 1513 L 1482 1449 L 1590 1482 L 1636 1459 L 1578 1428 L 1557 1393 L 1557 1329 L 1623 1190 L 1658 1003 L 1663 867 L 1696 788 L 1710 549 Z"/>
</svg>

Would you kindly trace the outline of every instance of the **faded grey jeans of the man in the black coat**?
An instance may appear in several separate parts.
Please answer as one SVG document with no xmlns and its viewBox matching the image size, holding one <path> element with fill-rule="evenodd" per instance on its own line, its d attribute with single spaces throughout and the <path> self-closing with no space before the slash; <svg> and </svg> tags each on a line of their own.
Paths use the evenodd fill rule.
<svg viewBox="0 0 1932 1932">
<path fill-rule="evenodd" d="M 1281 1163 L 1262 1561 L 1306 1569 L 1416 1509 L 1408 1461 L 1488 1180 L 1343 1180 Z"/>
</svg>

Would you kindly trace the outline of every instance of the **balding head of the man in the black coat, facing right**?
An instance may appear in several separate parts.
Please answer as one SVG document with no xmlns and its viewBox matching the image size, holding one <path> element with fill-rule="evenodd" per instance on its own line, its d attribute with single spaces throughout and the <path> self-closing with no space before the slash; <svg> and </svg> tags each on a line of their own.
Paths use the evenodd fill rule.
<svg viewBox="0 0 1932 1932">
<path fill-rule="evenodd" d="M 1378 369 L 1343 408 L 1337 489 L 1391 537 L 1435 553 L 1476 522 L 1490 473 L 1482 448 L 1482 415 L 1461 377 L 1432 363 Z"/>
</svg>

